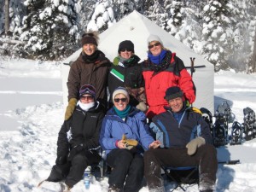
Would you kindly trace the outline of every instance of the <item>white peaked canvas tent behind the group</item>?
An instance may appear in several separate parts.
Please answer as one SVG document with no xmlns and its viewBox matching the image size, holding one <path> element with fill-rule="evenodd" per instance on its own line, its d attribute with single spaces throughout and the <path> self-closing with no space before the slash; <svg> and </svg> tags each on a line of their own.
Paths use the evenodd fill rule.
<svg viewBox="0 0 256 192">
<path fill-rule="evenodd" d="M 206 66 L 195 68 L 195 73 L 193 73 L 196 87 L 196 99 L 193 106 L 195 108 L 207 108 L 213 113 L 213 65 L 137 11 L 133 11 L 130 15 L 109 27 L 108 30 L 102 32 L 100 34 L 99 49 L 107 55 L 110 61 L 113 61 L 113 58 L 118 54 L 119 43 L 124 40 L 131 40 L 134 43 L 135 54 L 143 61 L 147 58 L 147 38 L 150 34 L 158 35 L 164 46 L 172 52 L 176 52 L 186 67 L 191 65 L 190 57 L 195 58 L 195 66 Z M 69 56 L 63 63 L 75 61 L 80 53 L 81 49 Z M 67 105 L 67 76 L 69 68 L 68 65 L 62 65 L 64 106 Z M 188 71 L 190 73 L 190 69 Z"/>
</svg>

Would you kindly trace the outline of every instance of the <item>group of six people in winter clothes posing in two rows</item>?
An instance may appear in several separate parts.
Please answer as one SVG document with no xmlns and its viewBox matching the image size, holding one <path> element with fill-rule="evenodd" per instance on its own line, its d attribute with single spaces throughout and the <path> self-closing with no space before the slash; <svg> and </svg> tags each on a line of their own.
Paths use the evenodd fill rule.
<svg viewBox="0 0 256 192">
<path fill-rule="evenodd" d="M 192 78 L 158 36 L 147 41 L 147 60 L 140 62 L 125 40 L 111 62 L 97 49 L 96 32 L 84 33 L 68 75 L 68 105 L 48 181 L 64 180 L 69 191 L 87 166 L 102 160 L 101 146 L 112 168 L 109 192 L 137 192 L 143 177 L 150 192 L 165 191 L 162 166 L 200 166 L 200 191 L 213 191 L 217 154 L 209 126 L 189 107 Z"/>
</svg>

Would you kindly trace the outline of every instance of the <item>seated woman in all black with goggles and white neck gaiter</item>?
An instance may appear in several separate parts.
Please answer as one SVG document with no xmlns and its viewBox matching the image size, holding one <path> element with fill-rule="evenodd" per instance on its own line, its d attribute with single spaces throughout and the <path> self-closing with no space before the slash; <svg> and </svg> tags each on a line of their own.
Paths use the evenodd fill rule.
<svg viewBox="0 0 256 192">
<path fill-rule="evenodd" d="M 99 147 L 103 111 L 96 101 L 95 88 L 84 84 L 79 90 L 79 102 L 71 118 L 61 126 L 55 166 L 46 181 L 65 180 L 64 191 L 69 191 L 82 179 L 87 166 L 101 160 L 96 148 Z"/>
</svg>

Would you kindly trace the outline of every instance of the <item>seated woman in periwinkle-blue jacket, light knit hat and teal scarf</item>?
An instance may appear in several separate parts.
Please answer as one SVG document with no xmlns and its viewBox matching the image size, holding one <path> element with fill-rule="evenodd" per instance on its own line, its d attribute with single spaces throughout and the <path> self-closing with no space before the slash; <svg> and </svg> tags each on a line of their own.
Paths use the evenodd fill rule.
<svg viewBox="0 0 256 192">
<path fill-rule="evenodd" d="M 145 114 L 128 104 L 130 97 L 125 88 L 115 89 L 112 98 L 113 108 L 103 119 L 100 135 L 107 163 L 113 167 L 108 192 L 137 192 L 143 181 L 142 153 L 158 148 L 160 142 L 150 136 Z"/>
</svg>

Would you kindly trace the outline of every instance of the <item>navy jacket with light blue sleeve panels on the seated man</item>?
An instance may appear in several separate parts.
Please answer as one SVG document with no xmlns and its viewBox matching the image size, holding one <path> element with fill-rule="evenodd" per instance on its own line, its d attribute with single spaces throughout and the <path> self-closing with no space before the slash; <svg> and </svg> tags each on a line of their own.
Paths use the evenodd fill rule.
<svg viewBox="0 0 256 192">
<path fill-rule="evenodd" d="M 154 116 L 152 121 L 150 128 L 155 133 L 155 138 L 160 140 L 161 148 L 185 148 L 195 137 L 203 137 L 206 143 L 212 143 L 207 122 L 191 108 L 186 108 L 181 113 L 172 113 L 171 108 L 166 108 L 166 112 Z"/>
</svg>

